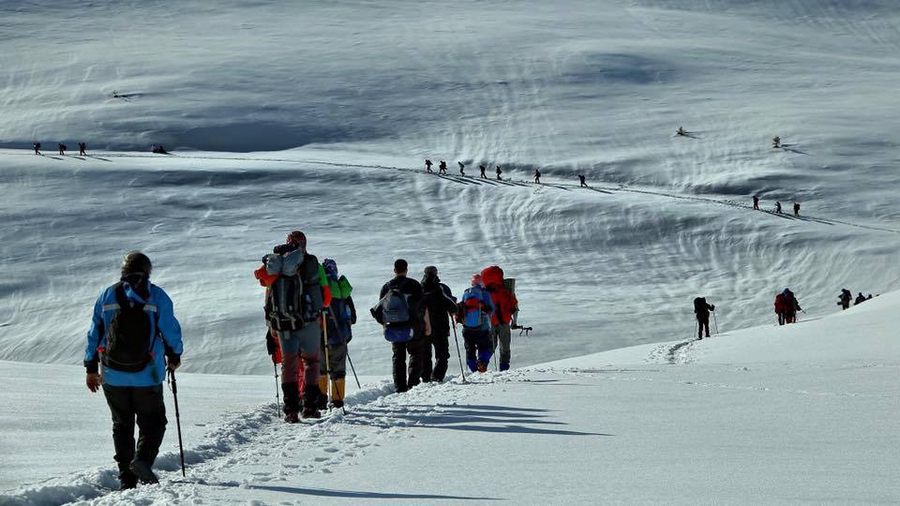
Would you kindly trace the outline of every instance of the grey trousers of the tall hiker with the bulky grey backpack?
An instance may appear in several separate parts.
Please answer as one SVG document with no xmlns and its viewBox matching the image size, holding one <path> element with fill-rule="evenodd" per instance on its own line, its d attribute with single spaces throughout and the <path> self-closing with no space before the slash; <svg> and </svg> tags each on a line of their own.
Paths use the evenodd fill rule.
<svg viewBox="0 0 900 506">
<path fill-rule="evenodd" d="M 300 412 L 300 394 L 303 401 L 315 405 L 319 398 L 319 356 L 321 355 L 321 330 L 316 322 L 309 322 L 300 330 L 279 330 L 281 344 L 281 391 L 284 393 L 285 414 Z M 299 381 L 300 363 L 303 362 L 302 388 Z"/>
</svg>

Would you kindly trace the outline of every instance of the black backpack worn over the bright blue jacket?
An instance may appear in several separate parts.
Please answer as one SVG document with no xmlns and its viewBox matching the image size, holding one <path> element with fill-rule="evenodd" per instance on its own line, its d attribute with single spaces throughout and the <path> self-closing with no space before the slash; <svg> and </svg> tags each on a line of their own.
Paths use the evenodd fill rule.
<svg viewBox="0 0 900 506">
<path fill-rule="evenodd" d="M 117 371 L 140 372 L 153 361 L 153 326 L 144 304 L 125 295 L 125 286 L 115 286 L 119 310 L 109 323 L 106 348 L 101 355 L 103 365 Z"/>
</svg>

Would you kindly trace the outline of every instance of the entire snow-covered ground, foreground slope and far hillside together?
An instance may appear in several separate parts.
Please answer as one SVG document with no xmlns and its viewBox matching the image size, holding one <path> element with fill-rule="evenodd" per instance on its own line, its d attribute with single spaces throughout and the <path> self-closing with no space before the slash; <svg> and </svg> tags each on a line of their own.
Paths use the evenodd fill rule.
<svg viewBox="0 0 900 506">
<path fill-rule="evenodd" d="M 0 2 L 0 505 L 900 502 L 898 49 L 888 0 Z M 363 380 L 299 426 L 251 275 L 293 229 Z M 119 493 L 80 364 L 132 249 L 188 476 L 170 405 L 162 484 Z M 518 369 L 393 394 L 398 257 L 516 278 Z"/>
</svg>

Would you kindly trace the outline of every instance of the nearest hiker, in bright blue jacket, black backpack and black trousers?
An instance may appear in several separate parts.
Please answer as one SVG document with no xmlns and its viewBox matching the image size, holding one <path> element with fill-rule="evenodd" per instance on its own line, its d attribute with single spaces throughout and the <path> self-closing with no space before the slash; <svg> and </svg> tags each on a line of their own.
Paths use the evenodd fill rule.
<svg viewBox="0 0 900 506">
<path fill-rule="evenodd" d="M 138 481 L 158 482 L 152 468 L 168 422 L 162 383 L 167 370 L 181 365 L 181 326 L 172 299 L 150 282 L 151 270 L 147 255 L 125 255 L 121 279 L 94 304 L 84 353 L 87 387 L 103 389 L 112 414 L 113 458 L 123 490 Z"/>
</svg>

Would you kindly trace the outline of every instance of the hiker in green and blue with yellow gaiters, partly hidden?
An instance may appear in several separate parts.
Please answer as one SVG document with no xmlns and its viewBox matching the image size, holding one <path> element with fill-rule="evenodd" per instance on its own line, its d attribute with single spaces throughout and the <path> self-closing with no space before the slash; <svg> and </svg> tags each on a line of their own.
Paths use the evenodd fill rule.
<svg viewBox="0 0 900 506">
<path fill-rule="evenodd" d="M 344 406 L 344 392 L 347 377 L 347 344 L 353 339 L 351 326 L 356 324 L 356 306 L 353 305 L 353 287 L 346 276 L 338 273 L 337 262 L 326 258 L 322 262 L 325 277 L 331 292 L 331 304 L 323 315 L 327 325 L 328 342 L 324 342 L 322 350 L 327 361 L 321 361 L 319 368 L 318 408 L 328 407 L 328 382 L 331 381 L 331 405 L 335 408 Z M 327 349 L 326 349 L 327 346 Z"/>
</svg>

